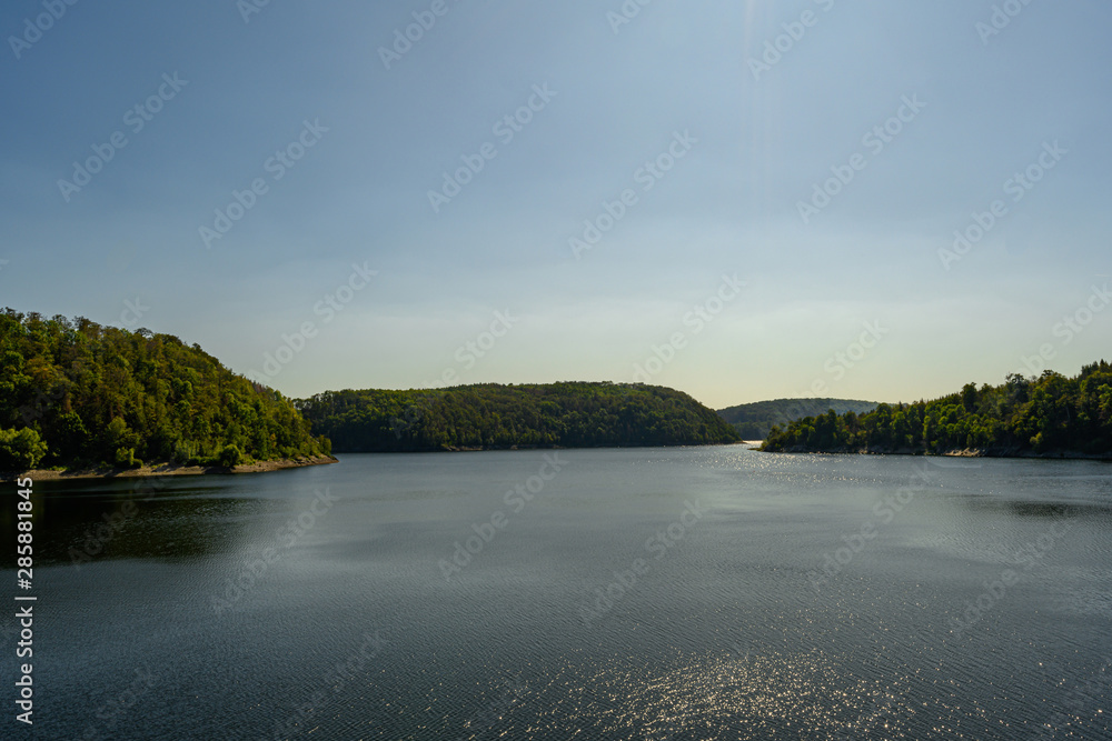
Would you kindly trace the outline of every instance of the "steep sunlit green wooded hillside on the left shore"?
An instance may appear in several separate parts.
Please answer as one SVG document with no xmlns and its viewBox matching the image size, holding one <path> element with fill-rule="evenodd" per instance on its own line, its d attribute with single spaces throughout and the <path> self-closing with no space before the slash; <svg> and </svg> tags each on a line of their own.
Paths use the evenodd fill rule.
<svg viewBox="0 0 1112 741">
<path fill-rule="evenodd" d="M 0 471 L 328 452 L 292 402 L 176 337 L 0 313 Z"/>
</svg>

